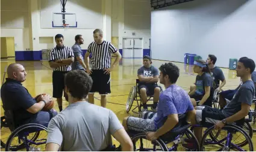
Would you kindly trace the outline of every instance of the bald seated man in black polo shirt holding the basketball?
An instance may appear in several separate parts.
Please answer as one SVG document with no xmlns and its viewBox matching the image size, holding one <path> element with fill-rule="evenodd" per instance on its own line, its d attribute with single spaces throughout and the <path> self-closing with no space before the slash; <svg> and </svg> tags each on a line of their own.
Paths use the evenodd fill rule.
<svg viewBox="0 0 256 152">
<path fill-rule="evenodd" d="M 48 126 L 52 117 L 57 115 L 55 110 L 41 111 L 51 101 L 51 97 L 41 96 L 37 102 L 28 90 L 22 86 L 26 80 L 27 72 L 18 63 L 11 63 L 7 68 L 5 83 L 1 87 L 2 104 L 5 111 L 13 112 L 15 127 L 27 123 L 38 123 Z"/>
</svg>

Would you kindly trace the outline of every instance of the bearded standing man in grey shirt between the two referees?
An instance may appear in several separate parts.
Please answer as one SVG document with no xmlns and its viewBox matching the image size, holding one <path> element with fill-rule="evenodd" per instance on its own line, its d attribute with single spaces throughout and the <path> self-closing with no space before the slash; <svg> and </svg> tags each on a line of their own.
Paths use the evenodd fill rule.
<svg viewBox="0 0 256 152">
<path fill-rule="evenodd" d="M 84 39 L 82 35 L 75 36 L 75 44 L 72 47 L 73 54 L 75 55 L 75 61 L 72 63 L 72 70 L 81 69 L 86 70 L 86 64 L 84 64 L 83 51 L 81 49 L 81 44 L 84 44 Z"/>
</svg>

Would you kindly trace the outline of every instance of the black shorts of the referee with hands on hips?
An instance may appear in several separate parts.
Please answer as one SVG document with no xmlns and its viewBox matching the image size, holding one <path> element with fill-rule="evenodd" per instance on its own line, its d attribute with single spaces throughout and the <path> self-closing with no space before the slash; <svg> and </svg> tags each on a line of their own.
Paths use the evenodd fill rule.
<svg viewBox="0 0 256 152">
<path fill-rule="evenodd" d="M 89 93 L 99 92 L 100 95 L 111 93 L 110 74 L 104 74 L 103 69 L 93 69 L 90 75 L 93 80 L 92 89 Z"/>
</svg>

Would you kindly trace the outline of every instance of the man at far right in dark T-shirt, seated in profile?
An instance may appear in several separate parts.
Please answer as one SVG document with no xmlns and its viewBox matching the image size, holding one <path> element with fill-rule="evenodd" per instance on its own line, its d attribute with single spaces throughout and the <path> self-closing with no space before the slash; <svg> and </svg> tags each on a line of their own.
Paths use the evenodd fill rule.
<svg viewBox="0 0 256 152">
<path fill-rule="evenodd" d="M 215 124 L 216 129 L 222 129 L 225 124 L 231 124 L 234 121 L 241 120 L 248 115 L 252 99 L 255 95 L 255 86 L 251 80 L 251 74 L 255 69 L 255 63 L 252 59 L 239 59 L 237 65 L 237 77 L 240 77 L 243 84 L 237 90 L 234 98 L 229 102 L 223 110 L 211 108 L 207 106 L 196 107 L 196 114 L 192 114 L 191 123 L 197 124 L 207 122 Z M 202 139 L 202 128 L 195 127 L 195 136 L 198 141 Z"/>
</svg>

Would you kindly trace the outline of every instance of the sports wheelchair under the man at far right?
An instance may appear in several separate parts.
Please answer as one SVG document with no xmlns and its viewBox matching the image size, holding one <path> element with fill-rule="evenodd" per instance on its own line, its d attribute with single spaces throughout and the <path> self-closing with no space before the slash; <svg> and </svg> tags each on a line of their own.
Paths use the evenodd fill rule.
<svg viewBox="0 0 256 152">
<path fill-rule="evenodd" d="M 206 122 L 196 124 L 190 130 L 193 132 L 195 127 L 206 128 L 200 143 L 200 149 L 202 151 L 229 151 L 231 149 L 237 151 L 254 151 L 251 139 L 252 128 L 249 124 L 251 120 L 252 115 L 249 113 L 249 118 L 243 118 L 233 124 L 226 124 L 221 130 L 215 130 L 213 124 Z M 246 132 L 246 129 L 249 132 Z M 210 149 L 205 150 L 205 148 Z"/>
</svg>

